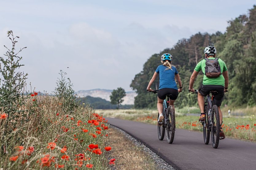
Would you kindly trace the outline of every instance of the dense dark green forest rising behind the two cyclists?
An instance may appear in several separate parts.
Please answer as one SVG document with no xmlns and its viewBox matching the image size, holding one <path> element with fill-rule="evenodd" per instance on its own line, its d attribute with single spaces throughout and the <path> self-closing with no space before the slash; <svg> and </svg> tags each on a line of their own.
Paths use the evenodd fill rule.
<svg viewBox="0 0 256 170">
<path fill-rule="evenodd" d="M 225 94 L 223 105 L 254 106 L 256 104 L 256 5 L 249 10 L 248 15 L 240 15 L 228 21 L 225 33 L 214 34 L 198 32 L 189 39 L 179 40 L 174 47 L 166 48 L 153 54 L 143 65 L 143 70 L 136 74 L 130 87 L 138 93 L 135 97 L 135 108 L 155 108 L 157 96 L 147 93 L 146 87 L 158 65 L 163 53 L 173 55 L 172 64 L 179 71 L 184 91 L 176 100 L 178 107 L 195 105 L 196 95 L 191 95 L 188 89 L 189 78 L 196 64 L 204 59 L 204 48 L 214 45 L 216 57 L 221 58 L 229 71 L 229 88 Z M 197 76 L 194 88 L 198 89 L 203 80 L 202 72 Z M 158 89 L 159 78 L 154 81 L 152 89 Z"/>
</svg>

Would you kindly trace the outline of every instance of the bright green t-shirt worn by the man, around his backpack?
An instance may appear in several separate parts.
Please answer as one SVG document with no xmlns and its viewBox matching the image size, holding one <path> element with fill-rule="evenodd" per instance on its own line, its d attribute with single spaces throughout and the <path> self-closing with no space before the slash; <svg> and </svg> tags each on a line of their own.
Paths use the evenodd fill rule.
<svg viewBox="0 0 256 170">
<path fill-rule="evenodd" d="M 210 57 L 208 59 L 212 60 L 212 59 L 215 59 L 215 58 L 214 57 Z M 224 79 L 222 74 L 219 77 L 217 77 L 217 78 L 206 77 L 206 75 L 205 75 L 205 66 L 206 66 L 205 62 L 206 62 L 206 60 L 203 59 L 200 62 L 198 62 L 196 67 L 195 67 L 195 70 L 197 72 L 202 70 L 203 73 L 204 73 L 203 85 L 222 85 L 222 86 L 225 86 L 225 79 Z M 218 59 L 218 62 L 219 62 L 219 66 L 220 66 L 220 69 L 221 69 L 221 73 L 223 73 L 223 71 L 227 71 L 227 66 L 226 66 L 225 62 L 222 61 L 221 59 Z"/>
</svg>

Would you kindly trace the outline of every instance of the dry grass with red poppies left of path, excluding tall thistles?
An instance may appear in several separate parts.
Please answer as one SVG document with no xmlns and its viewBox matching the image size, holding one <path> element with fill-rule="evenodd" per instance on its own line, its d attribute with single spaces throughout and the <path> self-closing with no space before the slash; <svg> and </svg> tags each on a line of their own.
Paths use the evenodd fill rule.
<svg viewBox="0 0 256 170">
<path fill-rule="evenodd" d="M 1 116 L 0 169 L 108 169 L 104 118 L 88 107 L 63 110 L 54 96 L 34 96 L 24 107 L 31 102 L 37 103 L 35 113 L 7 135 L 1 132 L 6 122 Z"/>
</svg>

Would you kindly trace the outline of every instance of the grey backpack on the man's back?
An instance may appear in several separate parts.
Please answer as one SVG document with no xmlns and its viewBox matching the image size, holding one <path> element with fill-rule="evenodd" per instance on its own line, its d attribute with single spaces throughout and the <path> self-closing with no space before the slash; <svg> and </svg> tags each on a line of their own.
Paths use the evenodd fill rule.
<svg viewBox="0 0 256 170">
<path fill-rule="evenodd" d="M 215 58 L 214 60 L 209 60 L 205 58 L 205 75 L 209 78 L 217 78 L 221 75 L 221 70 L 218 62 L 219 58 Z"/>
</svg>

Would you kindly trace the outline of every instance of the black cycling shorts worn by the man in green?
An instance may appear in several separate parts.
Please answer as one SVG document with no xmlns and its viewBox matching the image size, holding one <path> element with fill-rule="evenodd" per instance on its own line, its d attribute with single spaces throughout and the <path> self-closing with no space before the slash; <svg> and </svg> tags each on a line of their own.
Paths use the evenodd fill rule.
<svg viewBox="0 0 256 170">
<path fill-rule="evenodd" d="M 201 85 L 198 89 L 202 96 L 207 96 L 211 91 L 217 91 L 214 95 L 214 104 L 221 106 L 224 97 L 224 87 L 222 85 Z"/>
</svg>

